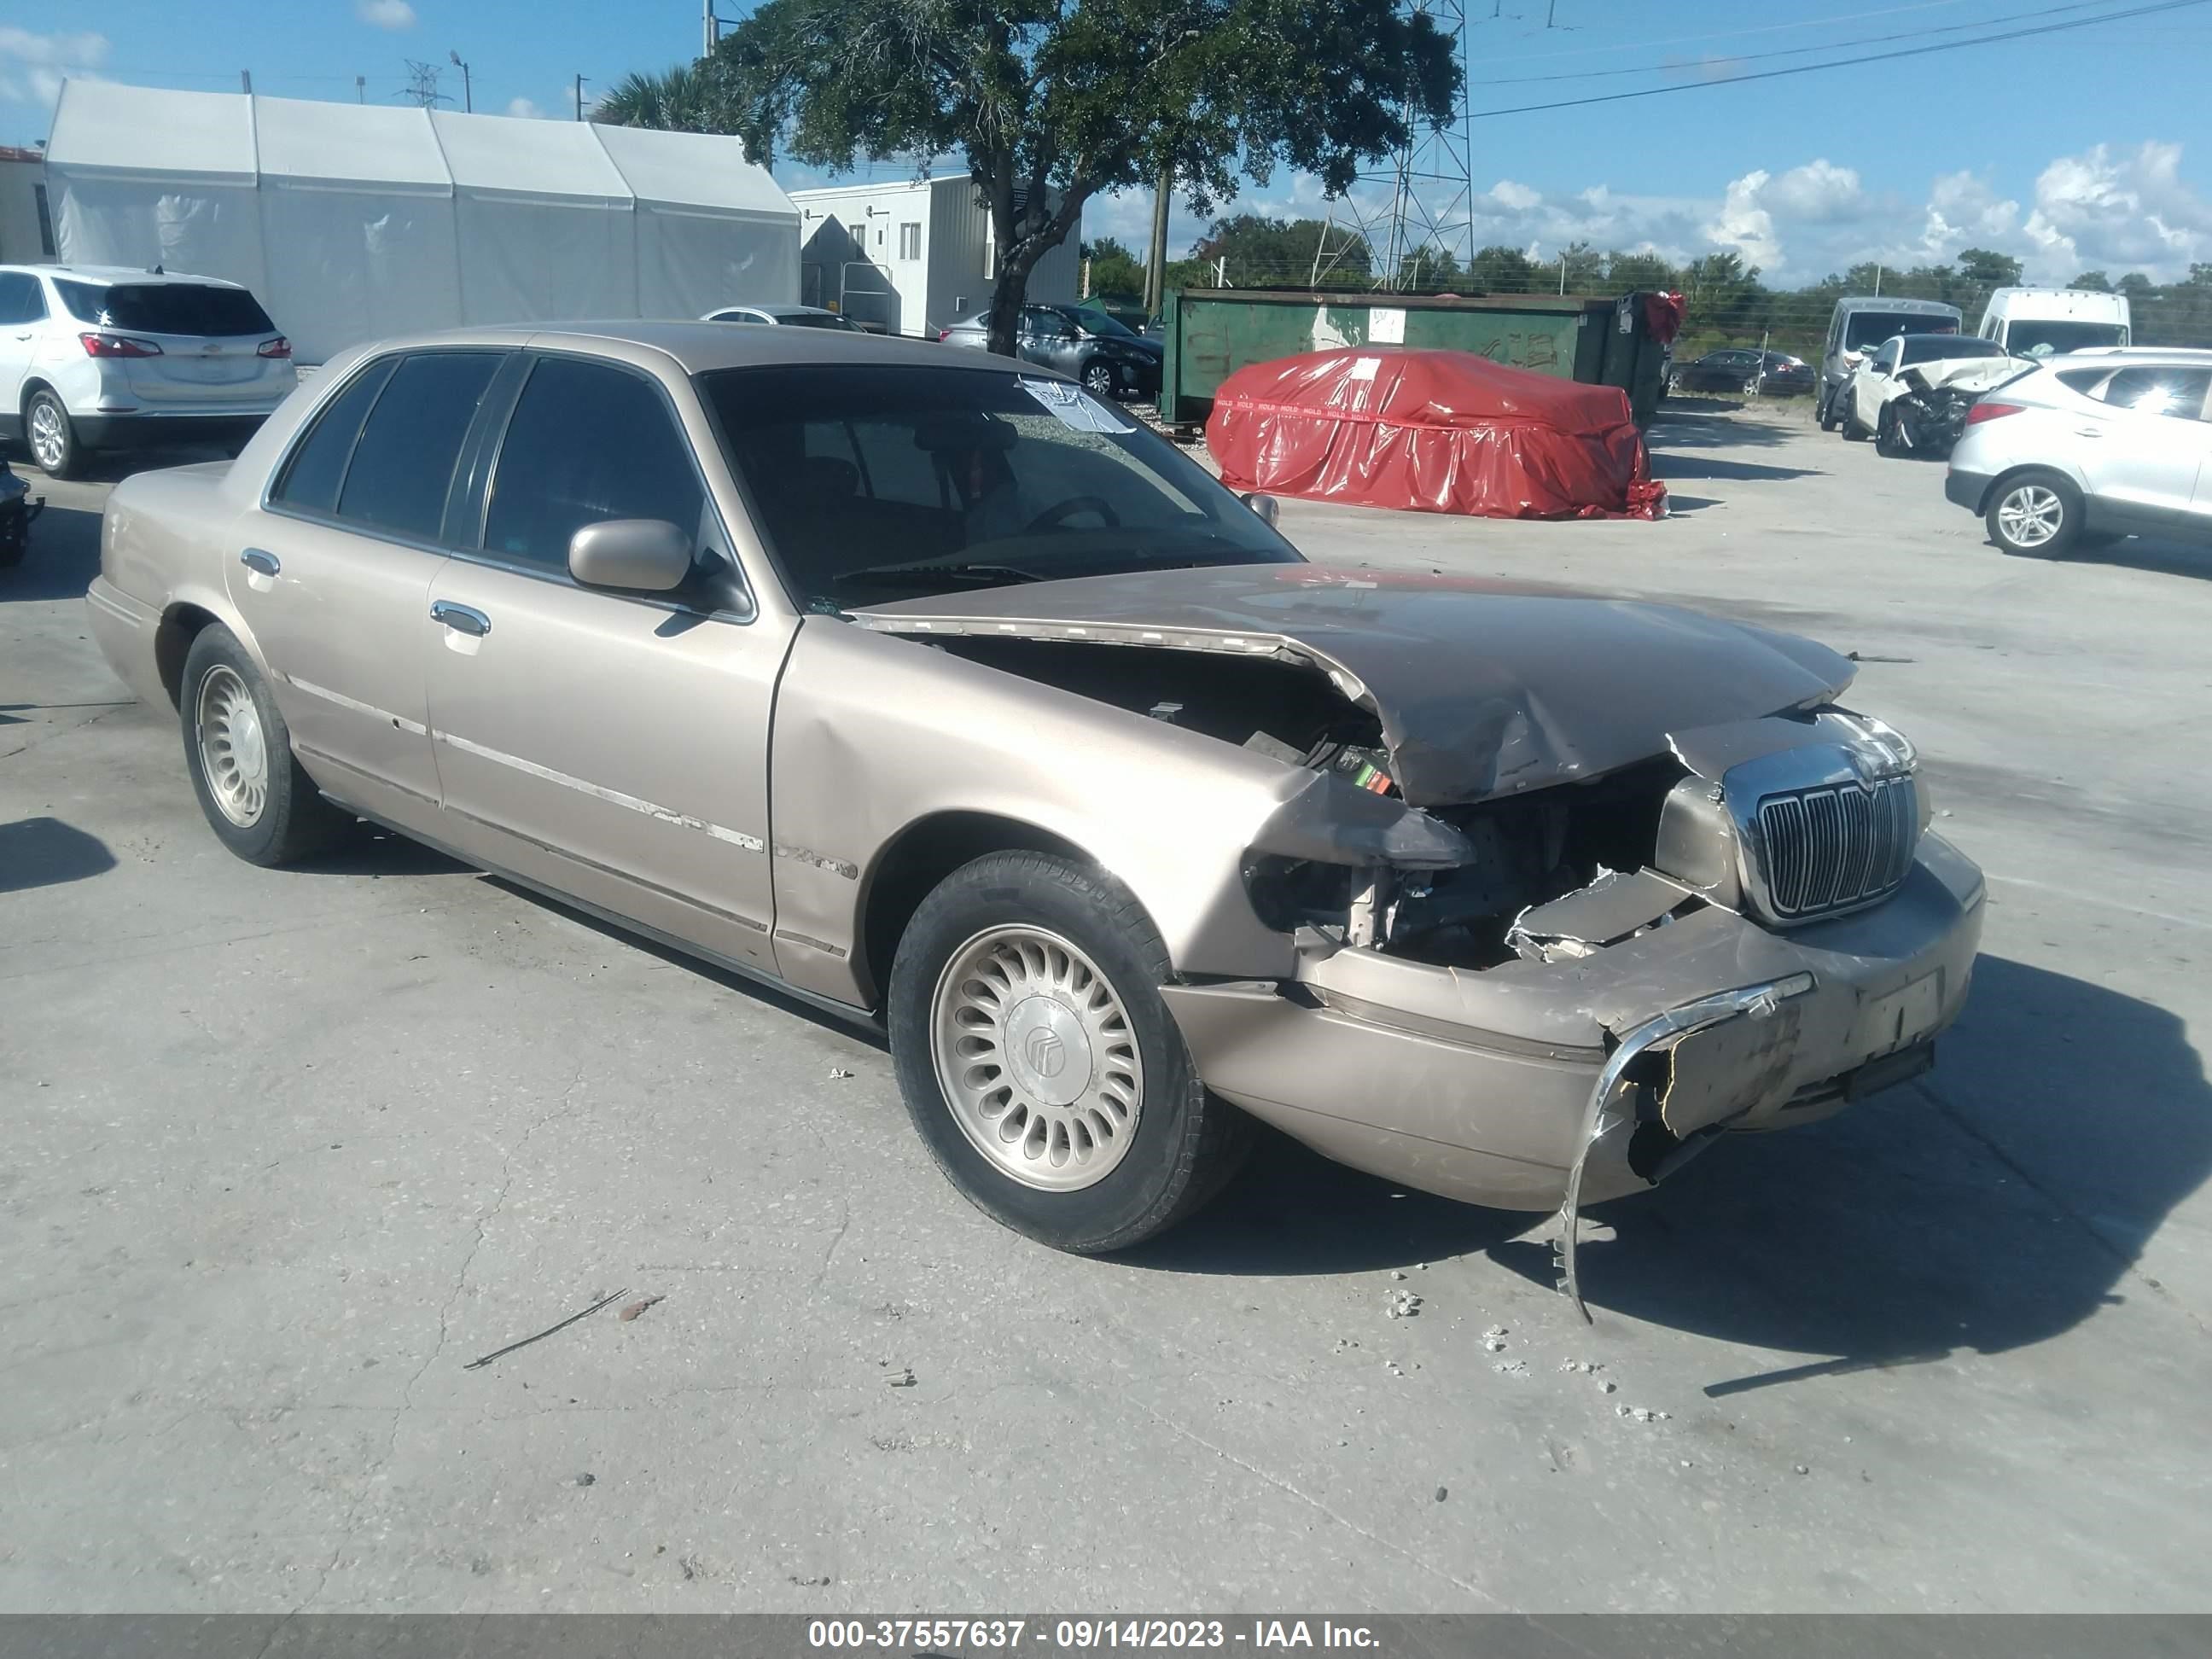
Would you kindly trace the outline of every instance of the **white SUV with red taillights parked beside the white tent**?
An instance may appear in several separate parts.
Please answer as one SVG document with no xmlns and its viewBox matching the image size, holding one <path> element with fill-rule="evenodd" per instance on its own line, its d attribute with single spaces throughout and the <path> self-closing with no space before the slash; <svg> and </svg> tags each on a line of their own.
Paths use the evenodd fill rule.
<svg viewBox="0 0 2212 1659">
<path fill-rule="evenodd" d="M 299 385 L 237 283 L 119 265 L 0 265 L 0 438 L 66 478 L 93 449 L 243 445 Z"/>
</svg>

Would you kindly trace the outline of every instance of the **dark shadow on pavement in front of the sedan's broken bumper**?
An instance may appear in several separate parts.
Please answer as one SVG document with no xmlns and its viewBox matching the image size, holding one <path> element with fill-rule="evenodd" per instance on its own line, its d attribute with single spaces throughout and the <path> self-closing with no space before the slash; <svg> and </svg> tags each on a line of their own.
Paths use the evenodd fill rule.
<svg viewBox="0 0 2212 1659">
<path fill-rule="evenodd" d="M 2166 1296 L 2137 1256 L 2212 1172 L 2212 1088 L 2181 1020 L 1984 956 L 1938 1053 L 1920 1084 L 1728 1137 L 1657 1192 L 1590 1210 L 1597 1321 L 1820 1356 L 1708 1380 L 1728 1396 L 2002 1354 Z M 1548 1241 L 1491 1256 L 1553 1281 Z"/>
</svg>

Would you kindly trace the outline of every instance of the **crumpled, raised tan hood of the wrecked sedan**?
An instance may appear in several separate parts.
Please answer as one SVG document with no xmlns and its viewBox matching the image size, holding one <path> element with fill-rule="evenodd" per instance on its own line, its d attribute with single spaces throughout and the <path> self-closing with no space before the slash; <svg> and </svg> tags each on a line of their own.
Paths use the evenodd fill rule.
<svg viewBox="0 0 2212 1659">
<path fill-rule="evenodd" d="M 1856 675 L 1809 639 L 1666 604 L 1318 564 L 1037 582 L 854 622 L 1307 661 L 1380 717 L 1418 807 L 1593 779 L 1666 754 L 1668 732 L 1832 701 Z"/>
</svg>

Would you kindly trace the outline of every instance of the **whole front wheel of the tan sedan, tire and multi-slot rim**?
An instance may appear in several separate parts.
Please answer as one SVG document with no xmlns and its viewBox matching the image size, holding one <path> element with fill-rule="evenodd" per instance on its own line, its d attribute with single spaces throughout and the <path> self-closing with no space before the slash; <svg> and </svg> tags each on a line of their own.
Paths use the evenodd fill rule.
<svg viewBox="0 0 2212 1659">
<path fill-rule="evenodd" d="M 1150 1239 L 1234 1175 L 1250 1121 L 1199 1082 L 1168 949 L 1104 872 L 1009 852 L 922 900 L 891 967 L 914 1126 L 978 1210 L 1055 1250 Z"/>
</svg>

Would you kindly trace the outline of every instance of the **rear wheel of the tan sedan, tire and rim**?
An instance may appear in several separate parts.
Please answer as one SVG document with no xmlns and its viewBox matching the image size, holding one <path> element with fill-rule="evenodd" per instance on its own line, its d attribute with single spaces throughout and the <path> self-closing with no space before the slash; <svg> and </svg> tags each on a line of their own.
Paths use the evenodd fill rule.
<svg viewBox="0 0 2212 1659">
<path fill-rule="evenodd" d="M 292 730 L 230 628 L 201 628 L 177 697 L 184 763 L 217 838 L 250 865 L 285 865 L 352 823 L 292 757 Z"/>
</svg>

